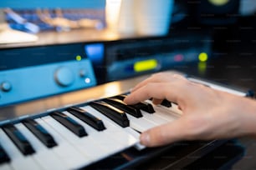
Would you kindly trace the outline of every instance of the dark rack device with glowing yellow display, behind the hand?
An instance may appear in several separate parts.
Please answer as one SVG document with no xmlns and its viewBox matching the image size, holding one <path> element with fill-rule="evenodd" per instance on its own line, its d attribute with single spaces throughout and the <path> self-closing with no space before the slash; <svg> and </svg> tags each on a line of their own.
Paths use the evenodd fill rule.
<svg viewBox="0 0 256 170">
<path fill-rule="evenodd" d="M 199 62 L 199 57 L 210 57 L 210 39 L 208 33 L 195 33 L 106 44 L 106 79 L 114 81 Z"/>
</svg>

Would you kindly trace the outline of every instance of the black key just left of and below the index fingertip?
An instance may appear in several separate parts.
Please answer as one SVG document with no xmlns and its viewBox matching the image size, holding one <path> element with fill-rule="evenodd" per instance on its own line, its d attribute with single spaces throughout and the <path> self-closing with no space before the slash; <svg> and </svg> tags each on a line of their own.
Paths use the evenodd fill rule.
<svg viewBox="0 0 256 170">
<path fill-rule="evenodd" d="M 122 110 L 124 112 L 127 112 L 128 114 L 131 114 L 134 117 L 142 117 L 140 109 L 137 109 L 135 107 L 131 107 L 120 99 L 104 98 L 103 101 L 109 103 L 110 105 L 112 105 L 114 107 L 119 108 L 120 110 Z"/>
</svg>

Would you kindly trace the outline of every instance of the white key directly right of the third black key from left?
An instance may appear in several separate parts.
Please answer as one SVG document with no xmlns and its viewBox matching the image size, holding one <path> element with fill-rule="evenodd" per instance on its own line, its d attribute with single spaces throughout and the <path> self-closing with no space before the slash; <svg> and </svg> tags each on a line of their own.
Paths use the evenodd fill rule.
<svg viewBox="0 0 256 170">
<path fill-rule="evenodd" d="M 87 161 L 84 158 L 84 155 L 79 153 L 74 146 L 70 145 L 59 133 L 55 132 L 55 130 L 49 126 L 48 123 L 44 122 L 41 118 L 35 119 L 42 127 L 44 127 L 51 135 L 53 135 L 56 143 L 58 143 L 57 147 L 52 148 L 54 153 L 58 154 L 59 158 L 64 160 L 67 164 L 67 168 L 75 169 L 82 168 L 87 165 Z"/>
</svg>

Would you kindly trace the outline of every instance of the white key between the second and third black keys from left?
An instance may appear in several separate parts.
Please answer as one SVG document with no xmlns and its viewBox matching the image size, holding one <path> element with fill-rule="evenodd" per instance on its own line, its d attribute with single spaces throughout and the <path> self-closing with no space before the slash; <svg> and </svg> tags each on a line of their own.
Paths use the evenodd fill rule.
<svg viewBox="0 0 256 170">
<path fill-rule="evenodd" d="M 33 154 L 33 158 L 36 159 L 42 167 L 45 169 L 67 169 L 64 160 L 59 158 L 52 148 L 46 148 L 22 123 L 15 124 L 15 127 L 28 138 L 28 141 L 36 151 L 36 153 Z"/>
</svg>

